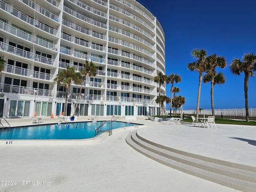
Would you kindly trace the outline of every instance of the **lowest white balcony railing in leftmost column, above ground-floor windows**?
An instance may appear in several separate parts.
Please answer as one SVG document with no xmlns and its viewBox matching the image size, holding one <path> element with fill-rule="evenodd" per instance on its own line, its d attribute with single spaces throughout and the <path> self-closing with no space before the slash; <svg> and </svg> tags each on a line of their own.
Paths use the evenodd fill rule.
<svg viewBox="0 0 256 192">
<path fill-rule="evenodd" d="M 55 97 L 54 92 L 51 90 L 34 89 L 31 87 L 22 87 L 7 84 L 0 84 L 0 92 L 30 96 Z"/>
</svg>

